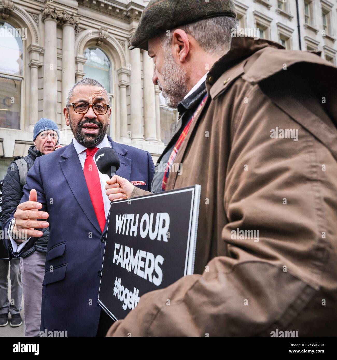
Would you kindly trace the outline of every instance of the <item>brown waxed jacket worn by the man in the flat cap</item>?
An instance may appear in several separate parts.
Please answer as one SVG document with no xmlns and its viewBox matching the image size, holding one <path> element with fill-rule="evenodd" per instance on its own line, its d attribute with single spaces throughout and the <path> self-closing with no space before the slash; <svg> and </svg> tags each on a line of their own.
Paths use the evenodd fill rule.
<svg viewBox="0 0 337 360">
<path fill-rule="evenodd" d="M 233 39 L 166 187 L 201 185 L 195 275 L 143 295 L 107 336 L 337 336 L 336 84 L 316 54 Z"/>
</svg>

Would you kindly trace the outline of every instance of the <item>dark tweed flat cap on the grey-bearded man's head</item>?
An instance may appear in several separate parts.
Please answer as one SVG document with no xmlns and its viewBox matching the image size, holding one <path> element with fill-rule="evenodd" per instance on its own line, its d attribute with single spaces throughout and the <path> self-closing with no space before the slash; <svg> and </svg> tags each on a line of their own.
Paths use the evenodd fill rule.
<svg viewBox="0 0 337 360">
<path fill-rule="evenodd" d="M 236 18 L 233 0 L 151 0 L 131 37 L 129 50 L 148 50 L 148 40 L 160 33 L 215 16 Z"/>
</svg>

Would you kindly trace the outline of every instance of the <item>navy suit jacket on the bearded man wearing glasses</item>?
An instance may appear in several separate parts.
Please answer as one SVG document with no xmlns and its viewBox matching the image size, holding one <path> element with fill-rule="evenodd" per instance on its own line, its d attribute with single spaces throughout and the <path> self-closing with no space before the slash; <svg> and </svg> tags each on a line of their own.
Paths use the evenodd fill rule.
<svg viewBox="0 0 337 360">
<path fill-rule="evenodd" d="M 151 155 L 144 150 L 117 144 L 110 137 L 108 139 L 120 159 L 116 174 L 129 181 L 145 181 L 146 185 L 138 187 L 150 191 L 154 174 Z M 96 336 L 101 310 L 97 299 L 107 223 L 102 233 L 72 142 L 35 160 L 28 172 L 21 202 L 28 201 L 31 189 L 37 191 L 41 210 L 49 213 L 41 331 Z M 8 229 L 13 215 L 14 212 L 5 228 Z M 36 239 L 31 238 L 27 248 Z M 10 258 L 18 256 L 13 253 L 10 240 L 8 251 Z"/>
</svg>

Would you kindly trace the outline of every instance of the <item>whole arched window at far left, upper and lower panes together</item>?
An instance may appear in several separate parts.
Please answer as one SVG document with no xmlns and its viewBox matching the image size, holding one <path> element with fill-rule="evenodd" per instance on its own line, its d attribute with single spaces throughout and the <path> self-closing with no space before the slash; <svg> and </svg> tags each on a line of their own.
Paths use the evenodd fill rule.
<svg viewBox="0 0 337 360">
<path fill-rule="evenodd" d="M 18 29 L 0 21 L 0 127 L 21 129 L 23 42 Z"/>
</svg>

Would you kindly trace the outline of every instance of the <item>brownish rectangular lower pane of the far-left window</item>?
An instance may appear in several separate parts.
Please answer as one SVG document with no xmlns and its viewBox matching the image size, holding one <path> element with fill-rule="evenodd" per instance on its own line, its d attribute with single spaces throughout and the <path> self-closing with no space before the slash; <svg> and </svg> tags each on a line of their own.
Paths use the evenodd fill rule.
<svg viewBox="0 0 337 360">
<path fill-rule="evenodd" d="M 20 129 L 21 80 L 0 76 L 0 127 Z"/>
</svg>

